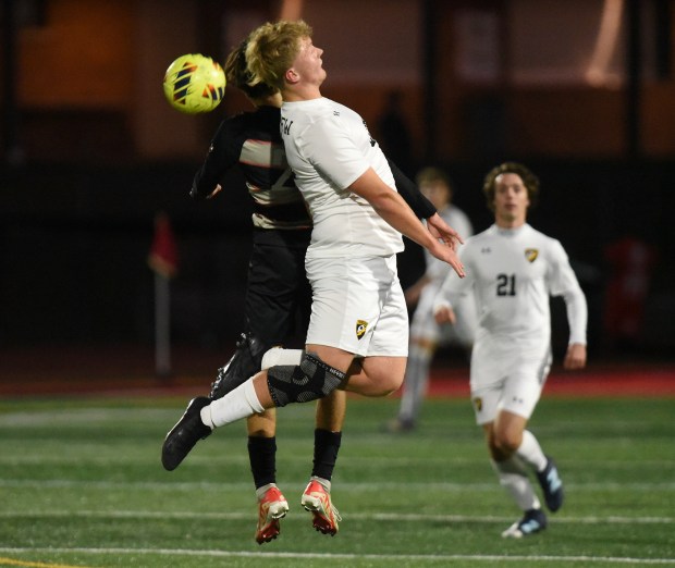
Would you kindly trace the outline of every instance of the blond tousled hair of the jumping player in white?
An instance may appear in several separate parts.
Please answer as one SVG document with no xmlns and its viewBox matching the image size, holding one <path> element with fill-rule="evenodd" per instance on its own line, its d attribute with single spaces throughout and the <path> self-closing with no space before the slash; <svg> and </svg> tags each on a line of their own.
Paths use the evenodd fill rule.
<svg viewBox="0 0 675 568">
<path fill-rule="evenodd" d="M 303 20 L 268 22 L 254 29 L 246 46 L 250 73 L 248 85 L 265 83 L 282 89 L 285 74 L 300 50 L 300 39 L 311 37 L 311 27 Z"/>
</svg>

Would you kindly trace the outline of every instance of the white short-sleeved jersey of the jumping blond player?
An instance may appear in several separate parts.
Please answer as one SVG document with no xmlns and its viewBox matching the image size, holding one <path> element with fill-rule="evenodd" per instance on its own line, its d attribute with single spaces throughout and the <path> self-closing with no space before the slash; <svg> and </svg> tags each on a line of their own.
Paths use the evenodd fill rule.
<svg viewBox="0 0 675 568">
<path fill-rule="evenodd" d="M 347 189 L 368 168 L 395 189 L 386 158 L 361 116 L 327 98 L 284 102 L 281 134 L 314 222 L 308 259 L 383 257 L 403 250 L 401 233 Z"/>
</svg>

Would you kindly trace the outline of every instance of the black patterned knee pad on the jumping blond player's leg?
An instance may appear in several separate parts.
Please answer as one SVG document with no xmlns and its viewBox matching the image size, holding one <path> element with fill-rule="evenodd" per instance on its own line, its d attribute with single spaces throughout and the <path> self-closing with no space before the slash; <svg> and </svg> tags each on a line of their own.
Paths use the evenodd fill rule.
<svg viewBox="0 0 675 568">
<path fill-rule="evenodd" d="M 304 353 L 299 366 L 280 365 L 267 372 L 267 384 L 274 406 L 309 403 L 331 394 L 345 373 L 326 365 L 316 354 Z"/>
</svg>

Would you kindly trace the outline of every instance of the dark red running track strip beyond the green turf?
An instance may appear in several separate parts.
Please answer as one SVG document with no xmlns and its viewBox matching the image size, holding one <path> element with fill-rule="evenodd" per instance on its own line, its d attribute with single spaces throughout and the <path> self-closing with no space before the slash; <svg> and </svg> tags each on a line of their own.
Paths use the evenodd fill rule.
<svg viewBox="0 0 675 568">
<path fill-rule="evenodd" d="M 229 356 L 214 350 L 180 349 L 172 354 L 171 378 L 154 374 L 148 347 L 42 347 L 0 351 L 0 398 L 90 394 L 206 394 L 214 371 Z M 435 363 L 430 396 L 468 397 L 468 365 Z M 591 362 L 584 371 L 554 367 L 545 396 L 675 396 L 675 361 Z"/>
</svg>

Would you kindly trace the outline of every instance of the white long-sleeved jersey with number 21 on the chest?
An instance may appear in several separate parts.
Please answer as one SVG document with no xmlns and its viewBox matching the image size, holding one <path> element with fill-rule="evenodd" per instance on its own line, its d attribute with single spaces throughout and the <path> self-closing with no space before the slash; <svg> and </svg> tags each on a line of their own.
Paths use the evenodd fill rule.
<svg viewBox="0 0 675 568">
<path fill-rule="evenodd" d="M 492 225 L 459 250 L 466 277 L 450 274 L 437 305 L 476 294 L 476 345 L 486 342 L 500 353 L 547 349 L 551 338 L 549 296 L 567 306 L 569 343 L 586 344 L 588 310 L 567 255 L 560 242 L 529 224 L 505 230 Z"/>
</svg>

